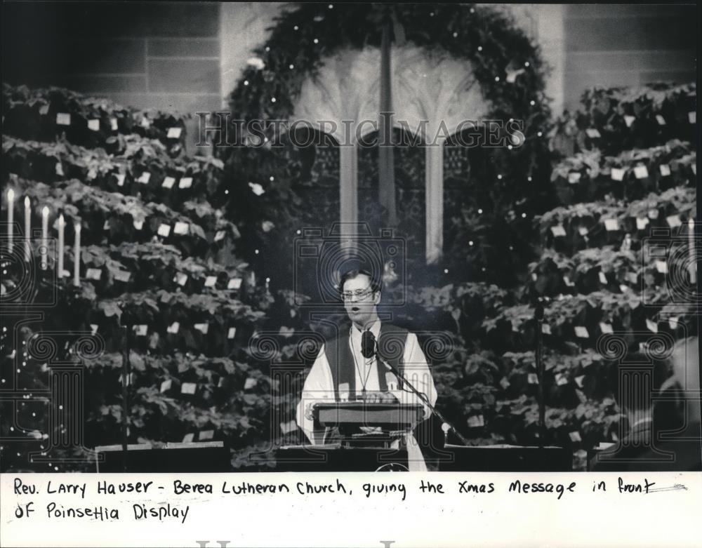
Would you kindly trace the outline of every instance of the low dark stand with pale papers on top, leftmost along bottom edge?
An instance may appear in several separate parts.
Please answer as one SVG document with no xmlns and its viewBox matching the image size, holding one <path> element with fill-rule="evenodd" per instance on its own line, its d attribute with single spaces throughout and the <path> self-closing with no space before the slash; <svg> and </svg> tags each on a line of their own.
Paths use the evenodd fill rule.
<svg viewBox="0 0 702 548">
<path fill-rule="evenodd" d="M 154 447 L 149 443 L 127 446 L 126 470 L 122 446 L 96 447 L 95 472 L 231 472 L 230 452 L 222 441 L 166 443 Z M 100 459 L 102 457 L 102 459 Z M 101 462 L 102 461 L 102 462 Z"/>
</svg>

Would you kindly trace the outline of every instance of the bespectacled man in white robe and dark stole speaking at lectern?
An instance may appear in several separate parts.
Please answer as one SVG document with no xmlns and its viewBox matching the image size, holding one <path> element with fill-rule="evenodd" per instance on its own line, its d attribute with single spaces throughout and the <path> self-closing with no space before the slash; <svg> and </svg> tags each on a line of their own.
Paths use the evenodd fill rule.
<svg viewBox="0 0 702 548">
<path fill-rule="evenodd" d="M 298 425 L 312 444 L 324 443 L 329 434 L 328 429 L 314 422 L 315 403 L 419 404 L 426 419 L 431 414 L 427 402 L 411 392 L 405 380 L 426 396 L 432 406 L 437 398 L 417 336 L 378 318 L 381 289 L 378 279 L 364 269 L 353 269 L 341 277 L 339 288 L 351 326 L 341 328 L 338 336 L 327 340 L 319 350 L 297 408 Z M 371 427 L 360 429 L 373 434 Z M 406 448 L 410 469 L 426 469 L 411 433 L 398 434 L 393 447 Z"/>
</svg>

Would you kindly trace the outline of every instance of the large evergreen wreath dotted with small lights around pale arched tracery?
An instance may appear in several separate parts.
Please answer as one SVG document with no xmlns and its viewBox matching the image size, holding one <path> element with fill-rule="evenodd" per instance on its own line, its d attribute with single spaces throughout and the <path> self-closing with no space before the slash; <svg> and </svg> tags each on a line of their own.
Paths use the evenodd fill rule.
<svg viewBox="0 0 702 548">
<path fill-rule="evenodd" d="M 444 250 L 451 261 L 458 255 L 461 265 L 472 264 L 481 279 L 497 275 L 505 283 L 515 283 L 514 273 L 523 272 L 532 258 L 528 242 L 534 215 L 549 204 L 550 107 L 543 92 L 546 69 L 538 47 L 507 15 L 486 6 L 460 4 L 301 4 L 279 15 L 270 38 L 254 50 L 256 56 L 249 59 L 230 94 L 232 119 L 263 123 L 288 119 L 303 83 L 318 74 L 326 58 L 344 48 L 380 46 L 387 13 L 396 36 L 399 30 L 406 41 L 420 48 L 470 62 L 490 105 L 489 119 L 524 121 L 522 146 L 482 149 L 488 167 L 481 173 L 480 184 L 487 187 L 493 210 L 481 219 L 486 229 L 470 239 L 478 244 L 473 249 L 491 248 L 494 253 L 471 257 L 465 242 L 458 253 Z M 271 142 L 280 138 L 274 131 L 275 126 L 270 126 L 266 133 Z M 283 283 L 286 261 L 281 262 L 281 254 L 289 258 L 296 230 L 309 214 L 305 211 L 309 206 L 296 193 L 300 173 L 295 159 L 270 146 L 220 147 L 218 155 L 227 164 L 221 189 L 227 196 L 221 198 L 228 202 L 244 241 L 251 244 L 246 259 L 262 276 L 275 272 Z M 467 215 L 472 216 L 472 212 Z M 455 232 L 470 232 L 470 227 L 458 227 Z M 508 245 L 517 252 L 508 252 Z M 491 272 L 478 266 L 488 266 Z M 452 270 L 465 272 L 465 268 Z"/>
</svg>

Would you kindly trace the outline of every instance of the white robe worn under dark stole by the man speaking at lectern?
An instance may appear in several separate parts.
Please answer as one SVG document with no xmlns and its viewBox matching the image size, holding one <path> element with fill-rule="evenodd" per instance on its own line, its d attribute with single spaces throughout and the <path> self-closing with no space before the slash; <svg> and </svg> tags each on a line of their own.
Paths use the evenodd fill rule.
<svg viewBox="0 0 702 548">
<path fill-rule="evenodd" d="M 370 330 L 377 341 L 380 335 L 380 321 L 378 320 L 373 323 Z M 380 390 L 378 382 L 378 361 L 375 356 L 371 358 L 365 358 L 363 356 L 361 353 L 361 338 L 362 331 L 352 326 L 349 347 L 355 360 L 355 396 L 361 396 L 364 387 L 366 392 L 378 392 Z M 432 379 L 427 360 L 424 357 L 417 336 L 414 333 L 407 333 L 403 359 L 404 377 L 409 380 L 419 392 L 425 394 L 433 406 L 437 399 L 434 380 Z M 380 363 L 380 368 L 380 374 L 385 375 L 387 369 L 382 363 Z M 388 392 L 393 394 L 400 403 L 419 403 L 424 409 L 424 418 L 429 417 L 431 414 L 429 406 L 409 389 L 401 390 L 397 389 L 397 386 L 388 386 Z M 346 398 L 350 396 L 351 394 L 347 394 Z M 343 394 L 341 390 L 340 398 L 345 399 L 345 394 Z M 297 408 L 298 425 L 303 429 L 307 439 L 309 439 L 312 444 L 322 443 L 322 440 L 319 439 L 319 436 L 315 439 L 314 422 L 310 418 L 310 410 L 314 403 L 322 401 L 334 401 L 333 380 L 329 361 L 327 361 L 324 352 L 324 346 L 319 349 L 317 359 L 310 369 L 310 374 L 307 375 L 302 397 Z M 410 469 L 415 471 L 426 470 L 418 443 L 411 433 L 406 434 L 405 444 L 407 447 Z"/>
</svg>

